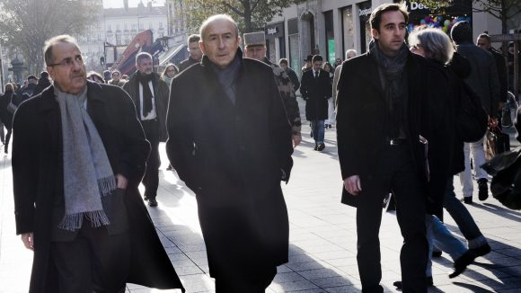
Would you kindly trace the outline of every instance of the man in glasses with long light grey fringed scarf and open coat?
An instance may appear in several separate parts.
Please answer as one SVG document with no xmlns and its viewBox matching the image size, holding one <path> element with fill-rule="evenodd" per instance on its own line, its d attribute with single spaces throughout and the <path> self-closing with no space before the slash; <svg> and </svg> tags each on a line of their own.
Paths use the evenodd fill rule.
<svg viewBox="0 0 521 293">
<path fill-rule="evenodd" d="M 137 186 L 150 145 L 128 94 L 86 81 L 75 39 L 46 42 L 54 83 L 13 119 L 16 233 L 30 292 L 182 289 Z"/>
</svg>

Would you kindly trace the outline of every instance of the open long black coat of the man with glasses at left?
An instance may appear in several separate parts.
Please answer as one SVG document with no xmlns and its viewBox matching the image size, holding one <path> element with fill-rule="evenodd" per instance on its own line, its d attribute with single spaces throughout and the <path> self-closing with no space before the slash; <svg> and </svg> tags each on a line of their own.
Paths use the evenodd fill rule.
<svg viewBox="0 0 521 293">
<path fill-rule="evenodd" d="M 127 281 L 159 289 L 182 288 L 137 190 L 150 145 L 132 100 L 117 86 L 88 82 L 87 111 L 113 172 L 128 179 L 125 203 L 132 260 Z M 30 292 L 57 292 L 49 247 L 53 209 L 57 197 L 63 197 L 62 156 L 60 111 L 51 86 L 23 102 L 13 120 L 16 233 L 34 233 Z"/>
</svg>

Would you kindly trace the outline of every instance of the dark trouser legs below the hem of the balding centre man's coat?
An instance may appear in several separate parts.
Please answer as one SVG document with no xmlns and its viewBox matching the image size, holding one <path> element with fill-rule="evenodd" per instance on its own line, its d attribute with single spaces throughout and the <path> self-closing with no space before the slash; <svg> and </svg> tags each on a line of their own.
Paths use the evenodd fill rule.
<svg viewBox="0 0 521 293">
<path fill-rule="evenodd" d="M 255 264 L 252 263 L 252 266 Z M 237 268 L 241 270 L 241 268 Z M 248 271 L 248 268 L 243 268 Z M 252 270 L 251 275 L 244 275 L 244 271 L 237 271 L 230 276 L 216 278 L 216 293 L 264 293 L 277 274 L 277 268 L 259 271 Z"/>
</svg>

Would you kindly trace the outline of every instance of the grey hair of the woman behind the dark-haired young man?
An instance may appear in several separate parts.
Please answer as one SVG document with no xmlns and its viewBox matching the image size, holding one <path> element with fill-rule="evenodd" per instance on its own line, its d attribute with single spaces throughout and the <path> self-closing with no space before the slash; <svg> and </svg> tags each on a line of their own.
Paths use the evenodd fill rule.
<svg viewBox="0 0 521 293">
<path fill-rule="evenodd" d="M 410 46 L 421 46 L 426 58 L 433 58 L 447 64 L 454 55 L 454 45 L 445 32 L 439 29 L 427 28 L 412 31 L 409 35 Z"/>
</svg>

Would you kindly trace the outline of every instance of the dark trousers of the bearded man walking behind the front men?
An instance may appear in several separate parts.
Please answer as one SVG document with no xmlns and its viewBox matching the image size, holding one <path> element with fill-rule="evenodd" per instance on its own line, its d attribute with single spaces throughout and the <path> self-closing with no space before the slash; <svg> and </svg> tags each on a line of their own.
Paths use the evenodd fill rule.
<svg viewBox="0 0 521 293">
<path fill-rule="evenodd" d="M 150 142 L 150 155 L 146 160 L 146 171 L 143 177 L 143 185 L 145 185 L 145 197 L 155 199 L 157 196 L 157 187 L 159 186 L 159 121 L 158 120 L 142 120 L 145 137 Z"/>
</svg>

